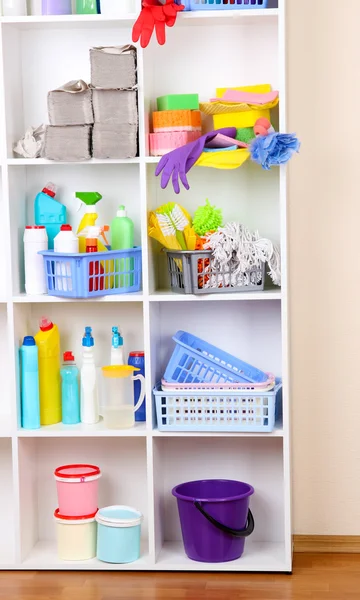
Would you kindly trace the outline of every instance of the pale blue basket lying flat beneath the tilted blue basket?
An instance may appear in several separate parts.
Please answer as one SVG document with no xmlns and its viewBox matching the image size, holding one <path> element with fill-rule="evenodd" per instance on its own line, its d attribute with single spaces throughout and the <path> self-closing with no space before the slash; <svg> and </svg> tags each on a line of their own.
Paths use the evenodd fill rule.
<svg viewBox="0 0 360 600">
<path fill-rule="evenodd" d="M 270 433 L 282 417 L 282 384 L 259 390 L 154 389 L 159 431 Z"/>
</svg>

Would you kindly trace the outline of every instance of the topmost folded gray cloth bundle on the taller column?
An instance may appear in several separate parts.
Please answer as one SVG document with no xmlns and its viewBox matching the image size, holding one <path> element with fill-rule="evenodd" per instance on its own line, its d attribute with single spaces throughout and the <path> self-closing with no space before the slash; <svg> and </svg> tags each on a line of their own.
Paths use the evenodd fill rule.
<svg viewBox="0 0 360 600">
<path fill-rule="evenodd" d="M 136 85 L 136 48 L 91 48 L 91 85 L 104 89 L 129 89 Z"/>
</svg>

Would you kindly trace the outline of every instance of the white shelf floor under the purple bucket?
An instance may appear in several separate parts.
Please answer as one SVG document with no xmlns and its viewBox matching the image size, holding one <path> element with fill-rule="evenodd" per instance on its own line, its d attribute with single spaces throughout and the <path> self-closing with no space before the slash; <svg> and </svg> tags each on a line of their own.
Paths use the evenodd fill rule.
<svg viewBox="0 0 360 600">
<path fill-rule="evenodd" d="M 282 543 L 245 541 L 241 558 L 228 563 L 199 563 L 187 558 L 181 542 L 165 542 L 156 564 L 164 571 L 290 571 Z"/>
</svg>

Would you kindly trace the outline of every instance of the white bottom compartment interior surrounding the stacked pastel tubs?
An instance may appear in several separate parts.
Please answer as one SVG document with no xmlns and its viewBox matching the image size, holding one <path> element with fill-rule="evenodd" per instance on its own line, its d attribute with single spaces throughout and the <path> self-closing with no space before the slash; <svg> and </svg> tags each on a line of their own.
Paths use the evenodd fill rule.
<svg viewBox="0 0 360 600">
<path fill-rule="evenodd" d="M 21 555 L 24 568 L 69 568 L 56 550 L 54 470 L 61 464 L 98 465 L 99 506 L 125 504 L 144 515 L 143 555 L 148 554 L 148 495 L 145 438 L 19 438 Z M 106 568 L 99 561 L 72 563 L 74 569 Z M 135 564 L 135 563 L 134 563 Z M 139 565 L 141 561 L 139 561 Z M 71 568 L 71 566 L 70 566 Z M 115 566 L 110 567 L 115 568 Z M 141 568 L 141 566 L 139 566 Z"/>
</svg>

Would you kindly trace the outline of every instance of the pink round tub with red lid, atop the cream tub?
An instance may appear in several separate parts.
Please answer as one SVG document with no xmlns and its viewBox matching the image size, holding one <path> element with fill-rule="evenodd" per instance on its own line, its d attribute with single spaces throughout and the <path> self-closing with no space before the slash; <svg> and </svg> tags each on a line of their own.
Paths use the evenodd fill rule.
<svg viewBox="0 0 360 600">
<path fill-rule="evenodd" d="M 54 472 L 59 511 L 69 517 L 81 517 L 97 511 L 99 467 L 65 465 Z"/>
</svg>

